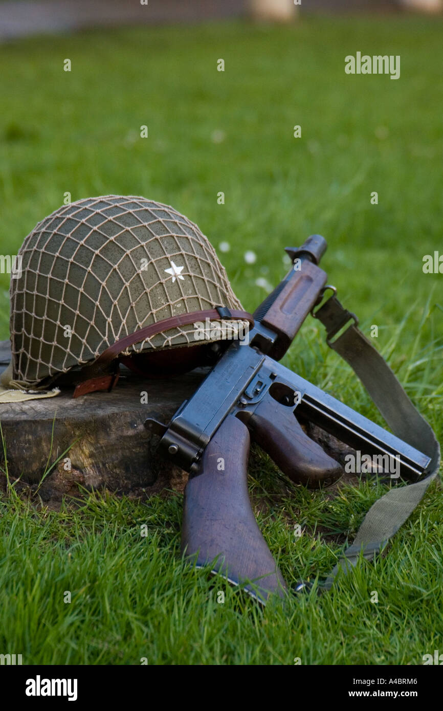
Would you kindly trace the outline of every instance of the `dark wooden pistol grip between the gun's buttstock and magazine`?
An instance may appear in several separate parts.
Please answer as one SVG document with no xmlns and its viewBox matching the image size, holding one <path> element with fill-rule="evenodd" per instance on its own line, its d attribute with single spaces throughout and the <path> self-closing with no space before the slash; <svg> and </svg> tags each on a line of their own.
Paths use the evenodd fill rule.
<svg viewBox="0 0 443 711">
<path fill-rule="evenodd" d="M 336 481 L 342 469 L 338 461 L 304 434 L 294 408 L 267 397 L 248 421 L 252 437 L 289 479 L 316 488 Z"/>
</svg>

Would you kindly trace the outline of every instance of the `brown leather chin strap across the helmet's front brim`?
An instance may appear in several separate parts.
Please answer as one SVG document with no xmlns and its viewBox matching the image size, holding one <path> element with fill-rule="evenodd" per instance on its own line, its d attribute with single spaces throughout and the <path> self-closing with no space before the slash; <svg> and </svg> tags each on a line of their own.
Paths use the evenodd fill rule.
<svg viewBox="0 0 443 711">
<path fill-rule="evenodd" d="M 170 328 L 177 326 L 189 326 L 195 324 L 196 321 L 248 321 L 250 328 L 254 326 L 254 317 L 248 314 L 247 311 L 230 310 L 226 306 L 216 306 L 214 309 L 206 309 L 206 311 L 193 311 L 192 314 L 180 314 L 171 316 L 169 319 L 157 321 L 156 324 L 150 324 L 140 328 L 139 331 L 129 333 L 129 336 L 120 338 L 119 341 L 109 346 L 103 353 L 100 353 L 98 358 L 85 366 L 85 372 L 90 373 L 92 377 L 83 380 L 75 387 L 73 397 L 87 395 L 88 392 L 95 390 L 107 390 L 110 392 L 119 379 L 117 358 L 123 351 L 126 351 L 135 343 L 140 343 L 146 338 L 156 336 L 162 331 L 169 331 Z M 198 341 L 196 341 L 196 344 Z M 110 369 L 112 369 L 110 373 Z"/>
</svg>

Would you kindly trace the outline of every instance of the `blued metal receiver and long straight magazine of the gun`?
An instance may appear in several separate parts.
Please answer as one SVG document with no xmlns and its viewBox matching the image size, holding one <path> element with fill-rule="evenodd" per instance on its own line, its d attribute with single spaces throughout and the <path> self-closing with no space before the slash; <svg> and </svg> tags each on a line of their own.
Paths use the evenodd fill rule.
<svg viewBox="0 0 443 711">
<path fill-rule="evenodd" d="M 291 415 L 299 412 L 354 449 L 370 455 L 397 458 L 400 461 L 400 475 L 406 479 L 421 476 L 429 465 L 428 456 L 410 447 L 402 439 L 359 415 L 351 407 L 343 405 L 343 402 L 327 395 L 256 348 L 241 346 L 240 343 L 233 343 L 228 348 L 193 397 L 183 402 L 169 427 L 156 423 L 158 433 L 159 427 L 163 429 L 159 447 L 165 456 L 174 458 L 182 469 L 198 474 L 201 455 L 225 417 L 238 417 L 252 431 L 257 431 L 260 417 L 258 429 L 263 435 L 267 427 L 273 431 L 279 430 L 280 418 L 286 417 L 288 409 Z M 272 418 L 269 416 L 271 412 Z M 149 424 L 149 420 L 146 422 Z M 295 417 L 293 425 L 295 430 Z M 309 442 L 314 444 L 306 435 L 301 437 L 299 434 L 300 438 L 306 447 Z M 263 444 L 260 436 L 259 444 Z M 320 447 L 319 450 L 323 451 Z M 276 447 L 275 454 L 277 451 Z M 269 454 L 272 456 L 272 452 L 269 451 Z M 298 448 L 297 460 L 294 459 L 290 468 L 283 471 L 294 481 L 304 479 L 303 483 L 311 485 L 321 483 L 331 476 L 329 468 L 325 476 L 322 476 L 322 470 L 312 476 L 309 461 L 304 457 L 303 449 Z"/>
</svg>

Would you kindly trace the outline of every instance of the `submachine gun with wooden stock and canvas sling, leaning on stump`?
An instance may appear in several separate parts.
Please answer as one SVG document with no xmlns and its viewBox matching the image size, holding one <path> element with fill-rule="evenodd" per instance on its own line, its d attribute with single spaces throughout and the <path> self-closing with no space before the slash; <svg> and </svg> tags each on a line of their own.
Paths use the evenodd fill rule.
<svg viewBox="0 0 443 711">
<path fill-rule="evenodd" d="M 292 481 L 312 487 L 331 483 L 341 475 L 341 465 L 304 433 L 296 417 L 301 415 L 354 449 L 383 457 L 383 461 L 394 459 L 402 478 L 417 482 L 406 488 L 421 487 L 415 489 L 415 496 L 410 494 L 413 501 L 409 504 L 400 501 L 401 496 L 391 496 L 386 502 L 389 513 L 375 534 L 374 515 L 371 519 L 369 512 L 368 525 L 365 528 L 365 519 L 341 567 L 346 562 L 355 564 L 361 550 L 365 557 L 375 555 L 415 508 L 438 470 L 439 451 L 432 429 L 359 331 L 356 316 L 343 309 L 334 287 L 326 286 L 326 273 L 319 267 L 325 250 L 326 241 L 320 235 L 311 235 L 299 248 L 287 248 L 293 267 L 256 309 L 248 338 L 230 343 L 169 425 L 154 416 L 145 422 L 147 429 L 161 437 L 161 453 L 191 475 L 185 491 L 183 552 L 198 566 L 212 564 L 213 572 L 242 585 L 261 602 L 271 593 L 284 597 L 287 585 L 250 505 L 250 438 Z M 324 301 L 329 289 L 332 295 Z M 229 309 L 219 307 L 218 313 L 220 319 L 230 318 Z M 278 363 L 309 313 L 326 326 L 329 346 L 356 370 L 398 436 Z M 402 488 L 397 489 L 373 508 L 390 494 L 401 495 Z M 333 577 L 326 587 L 331 587 Z"/>
</svg>

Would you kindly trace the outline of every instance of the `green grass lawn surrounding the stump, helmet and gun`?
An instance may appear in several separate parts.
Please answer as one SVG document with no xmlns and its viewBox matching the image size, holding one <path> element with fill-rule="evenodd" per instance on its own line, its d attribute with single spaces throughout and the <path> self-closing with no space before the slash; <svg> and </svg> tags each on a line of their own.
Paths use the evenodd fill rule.
<svg viewBox="0 0 443 711">
<path fill-rule="evenodd" d="M 365 333 L 378 325 L 378 348 L 442 440 L 443 275 L 422 272 L 423 255 L 443 252 L 441 32 L 436 18 L 310 18 L 2 46 L 0 251 L 15 254 L 66 191 L 73 200 L 143 195 L 188 215 L 215 247 L 230 242 L 220 257 L 254 309 L 265 296 L 255 279 L 277 283 L 283 247 L 320 232 L 329 281 Z M 357 50 L 400 54 L 400 80 L 345 75 L 344 57 Z M 246 250 L 256 264 L 245 264 Z M 0 338 L 7 288 L 0 274 Z M 284 363 L 381 422 L 316 321 Z M 42 452 L 42 474 L 47 459 Z M 333 499 L 312 493 L 258 449 L 250 474 L 260 528 L 289 584 L 327 574 L 385 491 L 366 483 Z M 439 483 L 387 556 L 285 609 L 262 610 L 183 565 L 181 503 L 174 492 L 144 502 L 92 493 L 55 512 L 21 501 L 11 483 L 0 501 L 0 651 L 23 663 L 351 665 L 416 664 L 442 650 Z"/>
</svg>

